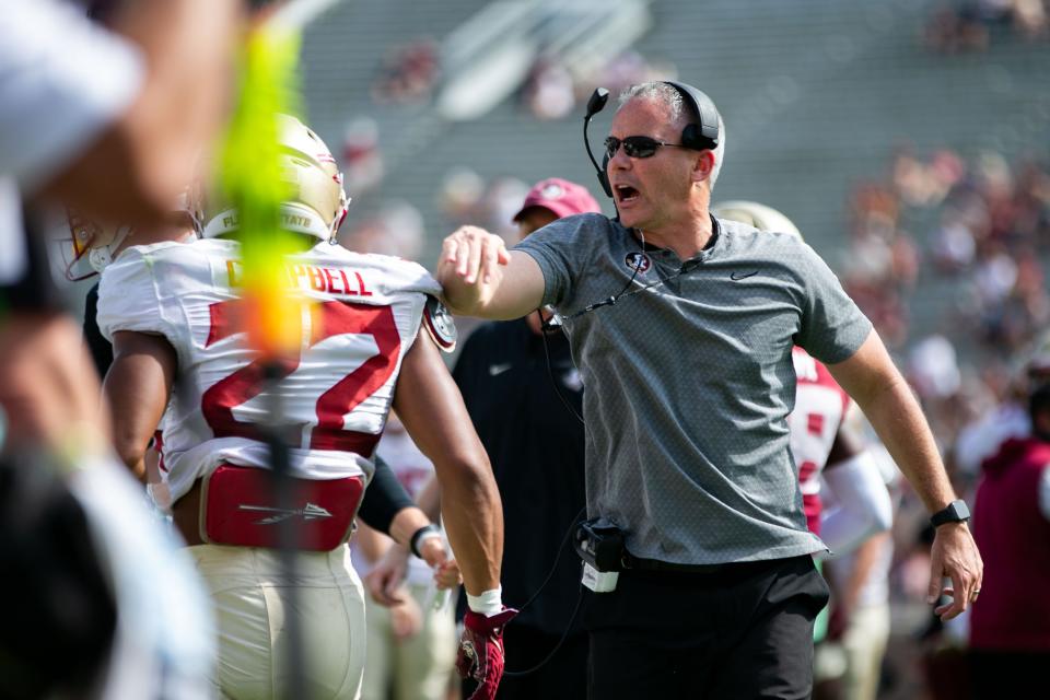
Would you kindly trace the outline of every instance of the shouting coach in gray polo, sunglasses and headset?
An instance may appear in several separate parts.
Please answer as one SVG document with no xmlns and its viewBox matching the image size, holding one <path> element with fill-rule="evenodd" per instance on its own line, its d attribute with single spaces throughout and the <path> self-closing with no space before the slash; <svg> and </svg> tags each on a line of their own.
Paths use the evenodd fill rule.
<svg viewBox="0 0 1050 700">
<path fill-rule="evenodd" d="M 929 595 L 947 575 L 955 597 L 937 612 L 960 614 L 980 588 L 966 513 L 871 323 L 797 238 L 710 214 L 724 148 L 707 95 L 632 86 L 606 139 L 618 220 L 562 219 L 512 252 L 467 226 L 438 264 L 454 312 L 551 304 L 569 335 L 587 387 L 587 514 L 602 518 L 587 538 L 623 537 L 584 617 L 593 698 L 809 696 L 828 587 L 789 446 L 795 345 L 827 364 L 942 523 Z"/>
</svg>

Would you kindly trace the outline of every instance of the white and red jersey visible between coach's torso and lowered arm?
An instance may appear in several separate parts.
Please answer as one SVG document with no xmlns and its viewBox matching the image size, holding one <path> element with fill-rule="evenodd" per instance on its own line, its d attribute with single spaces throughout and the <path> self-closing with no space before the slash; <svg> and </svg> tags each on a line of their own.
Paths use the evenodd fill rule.
<svg viewBox="0 0 1050 700">
<path fill-rule="evenodd" d="M 791 454 L 798 467 L 803 508 L 809 530 L 820 528 L 820 471 L 828 463 L 831 445 L 845 419 L 850 396 L 828 369 L 802 348 L 792 349 L 795 364 L 795 408 L 788 416 Z"/>
</svg>

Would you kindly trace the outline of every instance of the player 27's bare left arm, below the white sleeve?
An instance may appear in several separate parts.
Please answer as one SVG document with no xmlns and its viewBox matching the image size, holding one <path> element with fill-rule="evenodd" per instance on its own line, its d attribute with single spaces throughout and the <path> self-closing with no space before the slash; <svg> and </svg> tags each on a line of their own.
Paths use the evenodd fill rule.
<svg viewBox="0 0 1050 700">
<path fill-rule="evenodd" d="M 145 481 L 145 450 L 172 393 L 178 359 L 166 338 L 118 330 L 103 394 L 113 412 L 114 447 L 136 477 Z"/>
</svg>

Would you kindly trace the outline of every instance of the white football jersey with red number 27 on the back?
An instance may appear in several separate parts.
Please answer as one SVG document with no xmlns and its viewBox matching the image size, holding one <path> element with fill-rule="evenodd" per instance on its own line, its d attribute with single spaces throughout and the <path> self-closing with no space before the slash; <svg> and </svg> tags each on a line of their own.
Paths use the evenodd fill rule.
<svg viewBox="0 0 1050 700">
<path fill-rule="evenodd" d="M 287 283 L 313 303 L 302 314 L 299 354 L 282 362 L 271 386 L 246 342 L 236 242 L 131 247 L 102 276 L 103 335 L 160 334 L 178 355 L 162 421 L 173 500 L 220 463 L 266 468 L 258 425 L 270 420 L 275 399 L 295 476 L 372 477 L 401 360 L 427 294 L 441 288 L 415 262 L 328 243 L 290 257 L 285 269 Z"/>
</svg>

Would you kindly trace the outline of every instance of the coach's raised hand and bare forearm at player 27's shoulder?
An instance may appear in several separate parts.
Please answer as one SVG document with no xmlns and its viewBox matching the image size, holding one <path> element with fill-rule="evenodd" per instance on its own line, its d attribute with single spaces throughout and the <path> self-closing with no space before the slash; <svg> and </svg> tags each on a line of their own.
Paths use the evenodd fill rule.
<svg viewBox="0 0 1050 700">
<path fill-rule="evenodd" d="M 465 316 L 521 318 L 544 299 L 536 260 L 508 252 L 503 238 L 477 226 L 460 226 L 445 238 L 435 276 L 448 308 Z"/>
</svg>

